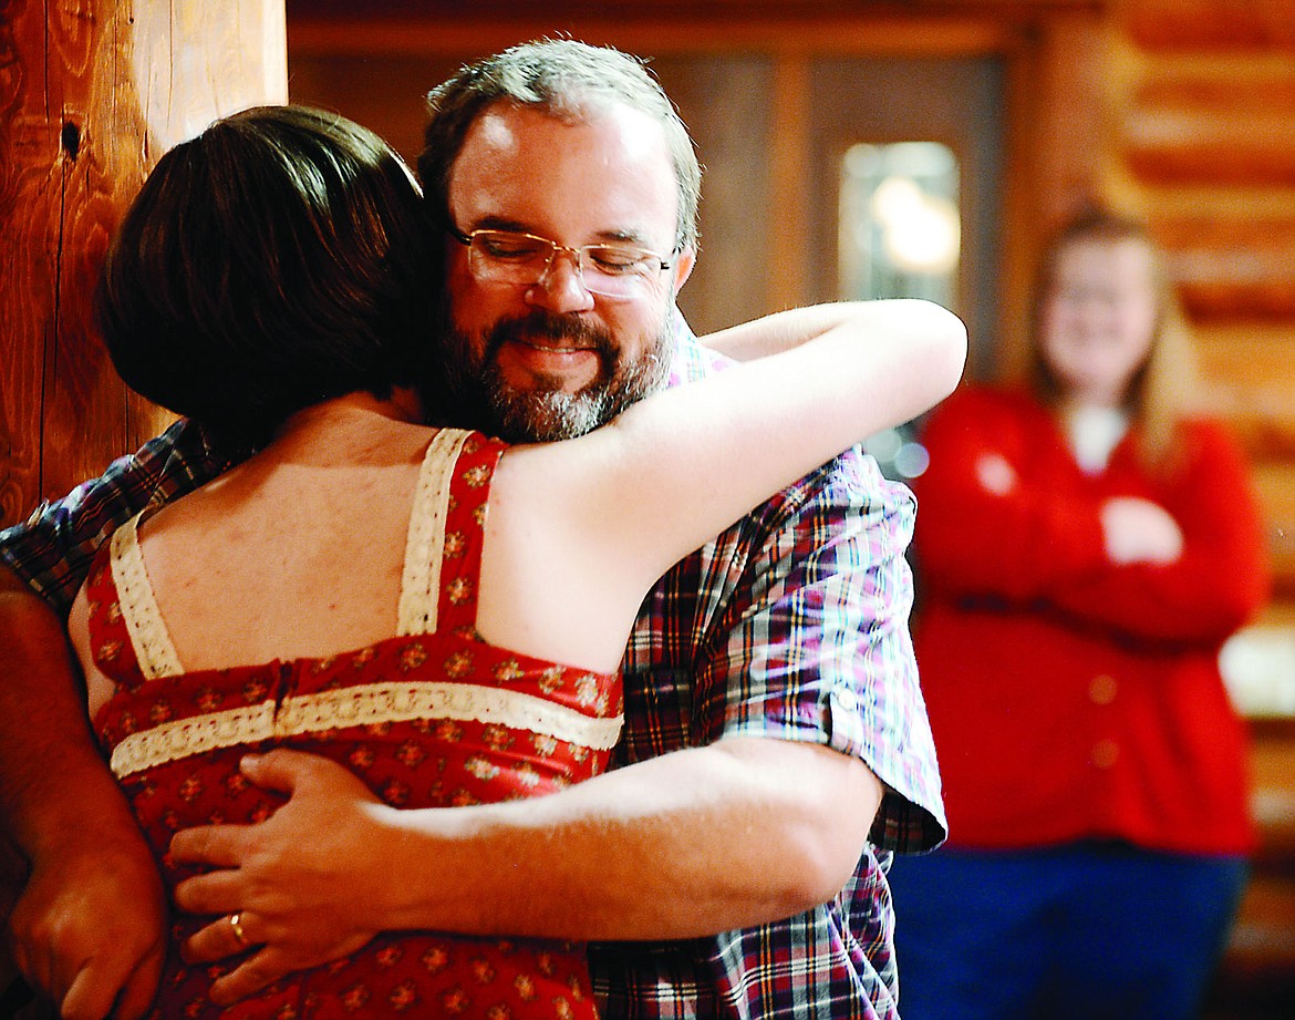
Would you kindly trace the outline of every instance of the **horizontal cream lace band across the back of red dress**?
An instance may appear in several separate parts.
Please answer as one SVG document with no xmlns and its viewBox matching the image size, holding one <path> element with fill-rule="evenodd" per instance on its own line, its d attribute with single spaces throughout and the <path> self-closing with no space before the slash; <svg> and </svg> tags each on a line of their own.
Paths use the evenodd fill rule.
<svg viewBox="0 0 1295 1020">
<path fill-rule="evenodd" d="M 124 779 L 219 748 L 416 719 L 499 723 L 593 750 L 610 750 L 624 722 L 623 715 L 593 718 L 521 691 L 464 683 L 376 683 L 285 697 L 277 706 L 263 701 L 166 722 L 126 737 L 113 749 L 111 766 Z"/>
</svg>

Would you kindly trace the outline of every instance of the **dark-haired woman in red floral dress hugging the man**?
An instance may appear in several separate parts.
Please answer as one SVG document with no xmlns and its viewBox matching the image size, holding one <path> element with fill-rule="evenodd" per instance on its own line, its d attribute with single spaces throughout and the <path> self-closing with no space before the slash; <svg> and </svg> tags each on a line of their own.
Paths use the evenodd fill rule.
<svg viewBox="0 0 1295 1020">
<path fill-rule="evenodd" d="M 102 324 L 123 378 L 254 451 L 119 527 L 69 625 L 168 889 L 192 874 L 167 854 L 177 829 L 282 802 L 240 772 L 247 752 L 346 766 L 407 846 L 420 809 L 597 775 L 657 577 L 961 372 L 965 333 L 944 310 L 842 306 L 739 327 L 738 347 L 807 342 L 569 442 L 429 428 L 444 416 L 418 398 L 436 391 L 440 286 L 420 203 L 376 136 L 264 108 L 167 153 L 111 246 Z M 246 953 L 186 967 L 176 949 L 212 920 L 176 921 L 158 1015 L 594 1012 L 578 947 L 417 918 L 223 1012 L 212 985 L 272 933 L 236 914 L 223 927 Z"/>
</svg>

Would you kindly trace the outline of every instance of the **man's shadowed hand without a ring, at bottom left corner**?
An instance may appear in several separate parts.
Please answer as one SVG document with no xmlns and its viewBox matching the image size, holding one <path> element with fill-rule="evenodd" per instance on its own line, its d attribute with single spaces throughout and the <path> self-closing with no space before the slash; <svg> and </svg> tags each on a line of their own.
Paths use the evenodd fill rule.
<svg viewBox="0 0 1295 1020">
<path fill-rule="evenodd" d="M 9 919 L 14 962 L 65 1020 L 137 1020 L 166 958 L 162 880 L 142 840 L 84 835 L 36 859 Z"/>
</svg>

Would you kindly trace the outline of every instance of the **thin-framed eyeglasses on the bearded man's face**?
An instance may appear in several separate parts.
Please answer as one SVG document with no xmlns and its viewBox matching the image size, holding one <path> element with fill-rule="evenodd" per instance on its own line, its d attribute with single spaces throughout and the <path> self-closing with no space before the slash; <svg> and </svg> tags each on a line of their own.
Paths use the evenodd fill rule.
<svg viewBox="0 0 1295 1020">
<path fill-rule="evenodd" d="M 543 284 L 562 253 L 571 257 L 576 276 L 591 294 L 629 299 L 650 293 L 660 271 L 671 267 L 655 251 L 637 245 L 571 248 L 521 231 L 462 233 L 453 226 L 448 229 L 451 237 L 467 246 L 467 267 L 483 283 Z"/>
</svg>

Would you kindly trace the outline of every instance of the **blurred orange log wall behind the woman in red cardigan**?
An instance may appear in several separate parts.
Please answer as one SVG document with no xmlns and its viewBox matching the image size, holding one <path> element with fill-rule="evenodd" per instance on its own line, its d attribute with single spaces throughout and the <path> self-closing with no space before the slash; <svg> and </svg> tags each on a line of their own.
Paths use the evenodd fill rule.
<svg viewBox="0 0 1295 1020">
<path fill-rule="evenodd" d="M 1210 1020 L 1295 1015 L 1295 19 L 1287 0 L 1120 0 L 1105 187 L 1169 253 L 1210 410 L 1241 434 L 1276 599 L 1230 661 L 1261 846 Z M 1225 662 L 1229 658 L 1225 657 Z"/>
</svg>

